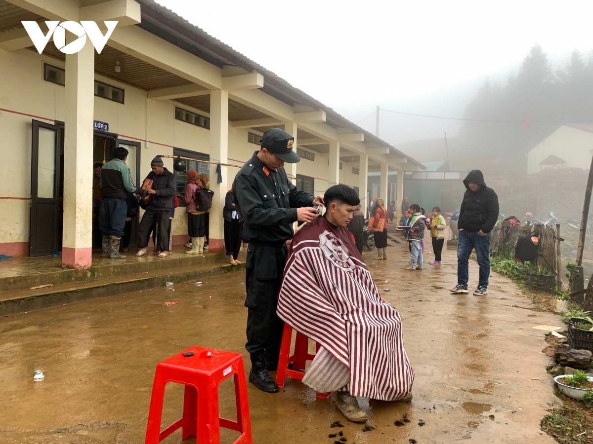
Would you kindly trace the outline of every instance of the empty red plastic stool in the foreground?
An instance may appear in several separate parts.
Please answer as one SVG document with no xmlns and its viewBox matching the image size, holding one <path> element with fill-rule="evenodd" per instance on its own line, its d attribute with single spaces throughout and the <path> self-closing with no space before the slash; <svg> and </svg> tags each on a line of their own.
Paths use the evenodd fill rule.
<svg viewBox="0 0 593 444">
<path fill-rule="evenodd" d="M 186 357 L 178 353 L 157 365 L 145 443 L 158 444 L 179 427 L 182 427 L 182 440 L 196 436 L 196 444 L 219 443 L 220 427 L 225 427 L 241 433 L 234 444 L 252 444 L 243 356 L 203 347 L 192 347 L 183 353 L 187 352 L 194 355 Z M 232 375 L 237 422 L 221 418 L 218 413 L 218 386 Z M 161 432 L 162 401 L 165 385 L 170 381 L 185 385 L 183 417 Z"/>
</svg>

